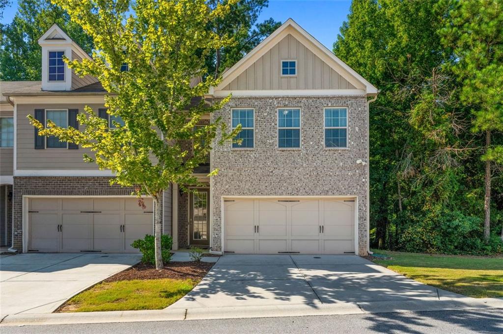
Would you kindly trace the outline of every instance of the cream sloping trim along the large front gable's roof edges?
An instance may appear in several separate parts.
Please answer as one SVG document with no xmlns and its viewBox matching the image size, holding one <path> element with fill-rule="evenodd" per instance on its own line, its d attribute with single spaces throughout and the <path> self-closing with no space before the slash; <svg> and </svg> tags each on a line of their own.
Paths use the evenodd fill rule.
<svg viewBox="0 0 503 334">
<path fill-rule="evenodd" d="M 260 57 L 266 54 L 273 48 L 281 39 L 288 34 L 291 34 L 309 48 L 316 56 L 321 58 L 328 66 L 338 72 L 346 80 L 359 89 L 365 90 L 367 95 L 375 95 L 378 89 L 367 81 L 364 77 L 358 74 L 348 64 L 339 59 L 323 44 L 317 41 L 307 31 L 300 27 L 292 19 L 288 19 L 278 29 L 276 29 L 269 37 L 262 41 L 258 46 L 251 50 L 246 56 L 241 58 L 234 66 L 223 72 L 222 81 L 213 90 L 223 90 L 223 87 L 228 85 L 233 79 L 243 73 L 251 64 L 256 62 Z"/>
</svg>

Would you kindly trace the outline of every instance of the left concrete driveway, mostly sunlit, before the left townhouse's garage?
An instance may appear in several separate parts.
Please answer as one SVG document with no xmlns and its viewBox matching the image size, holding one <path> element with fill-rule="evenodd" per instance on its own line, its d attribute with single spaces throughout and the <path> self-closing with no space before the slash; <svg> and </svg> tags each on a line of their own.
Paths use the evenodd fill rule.
<svg viewBox="0 0 503 334">
<path fill-rule="evenodd" d="M 140 254 L 101 253 L 2 256 L 0 316 L 50 313 L 76 293 L 129 268 L 140 259 Z"/>
</svg>

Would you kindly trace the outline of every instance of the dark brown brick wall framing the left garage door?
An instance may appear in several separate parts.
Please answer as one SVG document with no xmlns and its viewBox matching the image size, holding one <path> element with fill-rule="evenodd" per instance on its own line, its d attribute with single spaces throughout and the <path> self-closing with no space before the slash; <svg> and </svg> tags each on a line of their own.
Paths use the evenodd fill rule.
<svg viewBox="0 0 503 334">
<path fill-rule="evenodd" d="M 123 196 L 130 195 L 132 191 L 133 188 L 110 185 L 110 177 L 15 176 L 13 246 L 19 252 L 23 250 L 23 196 Z"/>
</svg>

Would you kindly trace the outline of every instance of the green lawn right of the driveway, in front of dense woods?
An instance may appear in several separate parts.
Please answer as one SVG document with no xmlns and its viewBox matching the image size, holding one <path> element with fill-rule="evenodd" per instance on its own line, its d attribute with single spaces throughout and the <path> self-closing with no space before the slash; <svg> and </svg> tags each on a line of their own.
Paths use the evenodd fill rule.
<svg viewBox="0 0 503 334">
<path fill-rule="evenodd" d="M 375 263 L 416 281 L 469 297 L 503 297 L 503 257 L 373 252 L 391 257 Z"/>
</svg>

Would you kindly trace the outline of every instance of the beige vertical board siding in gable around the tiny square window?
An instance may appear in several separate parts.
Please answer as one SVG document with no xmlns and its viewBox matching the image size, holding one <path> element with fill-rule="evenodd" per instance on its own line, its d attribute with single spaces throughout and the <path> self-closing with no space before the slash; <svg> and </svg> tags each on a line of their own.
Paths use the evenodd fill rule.
<svg viewBox="0 0 503 334">
<path fill-rule="evenodd" d="M 281 60 L 297 60 L 297 75 L 282 76 Z M 354 89 L 351 83 L 287 35 L 224 90 Z"/>
</svg>

